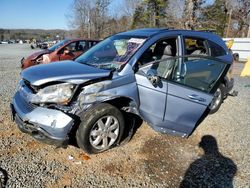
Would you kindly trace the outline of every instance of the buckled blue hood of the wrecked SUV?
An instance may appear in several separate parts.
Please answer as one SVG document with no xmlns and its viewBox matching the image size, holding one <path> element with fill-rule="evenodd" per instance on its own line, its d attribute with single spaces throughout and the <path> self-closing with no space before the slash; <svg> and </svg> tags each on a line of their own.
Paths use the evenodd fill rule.
<svg viewBox="0 0 250 188">
<path fill-rule="evenodd" d="M 96 78 L 109 77 L 110 73 L 109 70 L 98 69 L 74 61 L 60 61 L 30 67 L 22 71 L 21 76 L 31 85 L 41 86 L 56 81 L 80 84 Z"/>
</svg>

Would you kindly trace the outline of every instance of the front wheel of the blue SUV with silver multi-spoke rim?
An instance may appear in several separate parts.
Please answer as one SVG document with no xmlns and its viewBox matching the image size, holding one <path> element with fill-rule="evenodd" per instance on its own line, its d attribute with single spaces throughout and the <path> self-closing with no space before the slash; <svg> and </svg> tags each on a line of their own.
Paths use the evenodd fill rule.
<svg viewBox="0 0 250 188">
<path fill-rule="evenodd" d="M 106 122 L 103 122 L 105 120 Z M 118 126 L 118 130 L 114 128 L 116 126 Z M 87 153 L 100 153 L 116 146 L 120 142 L 123 132 L 124 117 L 121 111 L 110 104 L 101 103 L 83 113 L 76 132 L 76 141 L 78 146 Z M 113 138 L 110 137 L 110 134 Z M 101 146 L 96 144 L 100 139 L 102 139 Z"/>
</svg>

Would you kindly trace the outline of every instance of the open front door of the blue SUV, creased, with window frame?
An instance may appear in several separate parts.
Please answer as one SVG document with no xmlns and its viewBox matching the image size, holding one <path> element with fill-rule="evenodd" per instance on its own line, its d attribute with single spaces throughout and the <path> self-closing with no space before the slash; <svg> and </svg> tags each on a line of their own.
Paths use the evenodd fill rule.
<svg viewBox="0 0 250 188">
<path fill-rule="evenodd" d="M 206 117 L 228 67 L 205 56 L 167 58 L 141 67 L 136 73 L 141 116 L 157 131 L 190 135 Z"/>
</svg>

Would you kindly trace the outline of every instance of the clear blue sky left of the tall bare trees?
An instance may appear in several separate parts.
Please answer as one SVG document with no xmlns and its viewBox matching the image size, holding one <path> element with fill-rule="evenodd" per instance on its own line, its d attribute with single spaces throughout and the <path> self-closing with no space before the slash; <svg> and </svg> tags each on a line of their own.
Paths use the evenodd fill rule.
<svg viewBox="0 0 250 188">
<path fill-rule="evenodd" d="M 73 0 L 0 0 L 0 28 L 70 29 Z"/>
</svg>

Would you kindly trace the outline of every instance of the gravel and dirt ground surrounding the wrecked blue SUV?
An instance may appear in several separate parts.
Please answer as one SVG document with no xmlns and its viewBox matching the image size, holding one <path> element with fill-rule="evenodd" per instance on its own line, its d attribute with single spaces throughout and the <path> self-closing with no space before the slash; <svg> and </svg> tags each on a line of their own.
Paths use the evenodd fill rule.
<svg viewBox="0 0 250 188">
<path fill-rule="evenodd" d="M 250 78 L 239 77 L 220 110 L 188 139 L 143 123 L 121 147 L 87 156 L 21 133 L 9 116 L 28 45 L 0 45 L 0 179 L 6 187 L 250 187 Z"/>
</svg>

